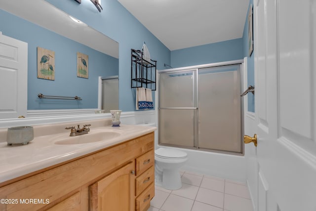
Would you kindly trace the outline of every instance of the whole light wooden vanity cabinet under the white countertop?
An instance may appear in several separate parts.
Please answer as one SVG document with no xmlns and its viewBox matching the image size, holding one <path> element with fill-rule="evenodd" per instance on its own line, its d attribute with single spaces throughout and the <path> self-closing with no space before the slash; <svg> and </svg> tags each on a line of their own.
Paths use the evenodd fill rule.
<svg viewBox="0 0 316 211">
<path fill-rule="evenodd" d="M 155 194 L 153 159 L 151 132 L 0 183 L 0 199 L 18 200 L 0 211 L 145 211 Z"/>
</svg>

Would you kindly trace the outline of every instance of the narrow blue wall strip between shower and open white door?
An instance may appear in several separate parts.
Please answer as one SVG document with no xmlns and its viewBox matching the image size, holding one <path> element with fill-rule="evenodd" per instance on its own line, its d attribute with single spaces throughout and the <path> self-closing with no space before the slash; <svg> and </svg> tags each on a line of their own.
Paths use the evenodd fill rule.
<svg viewBox="0 0 316 211">
<path fill-rule="evenodd" d="M 253 5 L 253 0 L 250 0 L 249 2 L 249 7 L 250 4 Z M 249 7 L 248 7 L 248 12 L 249 12 Z M 254 67 L 254 55 L 255 51 L 252 51 L 251 56 L 249 56 L 249 44 L 248 44 L 248 12 L 247 12 L 247 18 L 245 21 L 245 26 L 243 28 L 243 56 L 248 57 L 247 59 L 247 81 L 248 81 L 248 86 L 249 85 L 254 85 L 255 84 L 255 67 Z M 248 111 L 250 112 L 255 112 L 255 95 L 252 93 L 248 94 Z"/>
</svg>

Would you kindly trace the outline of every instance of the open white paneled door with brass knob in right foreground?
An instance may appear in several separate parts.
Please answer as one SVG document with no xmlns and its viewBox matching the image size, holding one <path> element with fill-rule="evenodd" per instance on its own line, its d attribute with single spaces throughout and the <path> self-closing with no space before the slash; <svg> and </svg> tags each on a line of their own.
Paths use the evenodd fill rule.
<svg viewBox="0 0 316 211">
<path fill-rule="evenodd" d="M 255 210 L 316 211 L 316 0 L 254 0 L 253 10 Z"/>
</svg>

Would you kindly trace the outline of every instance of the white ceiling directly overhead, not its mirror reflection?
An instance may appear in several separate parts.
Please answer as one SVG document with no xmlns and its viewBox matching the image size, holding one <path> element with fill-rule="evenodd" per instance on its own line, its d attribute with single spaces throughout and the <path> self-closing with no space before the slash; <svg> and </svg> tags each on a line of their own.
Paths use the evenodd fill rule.
<svg viewBox="0 0 316 211">
<path fill-rule="evenodd" d="M 249 0 L 118 0 L 170 50 L 242 37 Z"/>
</svg>

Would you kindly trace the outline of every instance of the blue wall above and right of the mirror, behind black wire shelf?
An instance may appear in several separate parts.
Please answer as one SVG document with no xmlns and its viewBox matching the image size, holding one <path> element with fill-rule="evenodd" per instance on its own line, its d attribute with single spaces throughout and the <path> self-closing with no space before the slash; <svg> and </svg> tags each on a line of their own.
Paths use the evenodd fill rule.
<svg viewBox="0 0 316 211">
<path fill-rule="evenodd" d="M 100 13 L 90 0 L 46 0 L 119 43 L 119 109 L 135 110 L 135 88 L 130 88 L 130 49 L 141 49 L 143 42 L 157 69 L 170 64 L 170 50 L 131 15 L 118 0 L 102 0 Z M 153 91 L 155 99 L 155 91 Z"/>
</svg>

